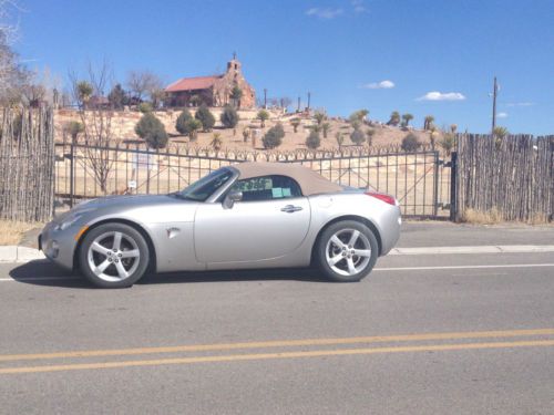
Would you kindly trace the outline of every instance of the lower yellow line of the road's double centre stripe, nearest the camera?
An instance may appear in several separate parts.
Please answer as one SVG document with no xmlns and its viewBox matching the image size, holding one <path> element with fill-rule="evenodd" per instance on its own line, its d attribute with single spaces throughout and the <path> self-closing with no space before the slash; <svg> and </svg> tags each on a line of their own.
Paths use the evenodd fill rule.
<svg viewBox="0 0 554 415">
<path fill-rule="evenodd" d="M 275 359 L 345 356 L 345 355 L 363 355 L 363 354 L 378 354 L 378 353 L 409 353 L 409 352 L 433 352 L 433 351 L 439 352 L 439 351 L 456 351 L 456 350 L 509 349 L 509 347 L 530 347 L 530 346 L 554 346 L 554 340 L 495 342 L 495 343 L 434 344 L 434 345 L 375 347 L 375 349 L 317 350 L 307 352 L 232 354 L 232 355 L 219 355 L 219 356 L 176 357 L 176 359 L 157 359 L 157 360 L 142 360 L 142 361 L 138 360 L 138 361 L 123 361 L 123 362 L 7 367 L 7 369 L 0 369 L 0 374 L 82 371 L 82 370 L 95 370 L 95 369 L 158 366 L 158 365 L 214 363 L 214 362 L 238 362 L 238 361 L 257 361 L 257 360 L 275 360 Z"/>
</svg>

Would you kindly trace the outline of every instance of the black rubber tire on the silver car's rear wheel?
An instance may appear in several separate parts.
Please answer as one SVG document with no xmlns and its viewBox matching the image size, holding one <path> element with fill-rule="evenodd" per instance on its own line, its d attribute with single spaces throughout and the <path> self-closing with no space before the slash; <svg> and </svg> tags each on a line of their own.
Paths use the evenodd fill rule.
<svg viewBox="0 0 554 415">
<path fill-rule="evenodd" d="M 355 242 L 355 247 L 352 247 L 351 250 L 348 248 L 348 243 L 345 243 L 342 248 L 339 248 L 336 243 L 332 243 L 329 246 L 328 243 L 329 240 L 337 235 L 338 232 L 343 232 L 340 234 L 340 237 L 348 236 L 348 231 L 352 231 L 350 235 L 353 234 L 353 231 L 359 231 L 362 237 L 358 237 L 357 241 Z M 340 239 L 340 238 L 339 238 Z M 348 238 L 347 238 L 348 239 Z M 360 240 L 360 241 L 358 241 Z M 343 241 L 345 242 L 345 241 Z M 370 256 L 366 257 L 358 257 L 352 255 L 355 252 L 353 249 L 356 247 L 361 249 L 361 245 L 369 245 L 371 252 Z M 350 257 L 343 256 L 343 250 L 346 247 L 346 255 L 350 255 Z M 349 272 L 349 267 L 348 267 L 348 260 L 351 259 L 352 263 L 356 266 L 356 261 L 358 261 L 358 268 L 355 267 L 355 270 L 357 272 L 350 273 L 350 274 L 343 274 L 339 273 L 336 270 L 331 268 L 331 266 L 328 263 L 327 260 L 327 251 L 328 250 L 335 250 L 332 252 L 332 256 L 335 253 L 337 255 L 336 258 L 339 258 L 339 255 L 342 256 L 342 259 L 339 259 L 339 261 L 336 263 L 336 268 L 345 268 L 343 271 L 345 273 Z M 361 251 L 360 251 L 361 252 Z M 367 253 L 367 249 L 363 249 L 363 252 Z M 329 255 L 331 257 L 331 255 Z M 319 269 L 324 272 L 324 274 L 331 281 L 336 282 L 357 282 L 360 281 L 362 278 L 367 277 L 371 270 L 373 269 L 377 258 L 379 257 L 379 246 L 377 243 L 377 238 L 373 235 L 372 230 L 368 228 L 365 224 L 356 220 L 341 220 L 336 224 L 330 225 L 327 227 L 322 234 L 319 236 L 317 242 L 316 242 L 316 264 L 319 267 Z M 366 260 L 368 258 L 368 260 Z M 367 262 L 367 263 L 365 263 Z"/>
</svg>

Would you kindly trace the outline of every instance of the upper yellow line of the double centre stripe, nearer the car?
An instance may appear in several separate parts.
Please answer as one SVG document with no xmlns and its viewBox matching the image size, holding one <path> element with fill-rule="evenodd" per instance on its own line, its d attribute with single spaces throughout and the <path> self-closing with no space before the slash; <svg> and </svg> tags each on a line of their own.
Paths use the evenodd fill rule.
<svg viewBox="0 0 554 415">
<path fill-rule="evenodd" d="M 246 342 L 246 343 L 177 345 L 177 346 L 162 346 L 162 347 L 69 351 L 69 352 L 38 353 L 38 354 L 6 354 L 6 355 L 0 355 L 0 362 L 39 360 L 39 359 L 71 359 L 71 357 L 154 354 L 154 353 L 207 352 L 207 351 L 225 351 L 225 350 L 240 350 L 240 349 L 318 346 L 318 345 L 341 345 L 341 344 L 345 345 L 345 344 L 360 344 L 360 343 L 408 342 L 408 341 L 424 341 L 424 340 L 516 338 L 516 336 L 532 336 L 532 335 L 554 335 L 554 329 L 423 333 L 423 334 L 400 334 L 400 335 L 376 335 L 376 336 L 345 338 L 345 339 L 305 339 L 305 340 L 283 340 L 283 341 Z"/>
</svg>

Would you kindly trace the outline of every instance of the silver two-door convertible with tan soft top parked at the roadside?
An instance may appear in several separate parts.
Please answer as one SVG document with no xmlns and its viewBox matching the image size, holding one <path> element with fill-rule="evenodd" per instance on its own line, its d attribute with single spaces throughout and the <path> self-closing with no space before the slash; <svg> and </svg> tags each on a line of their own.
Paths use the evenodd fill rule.
<svg viewBox="0 0 554 415">
<path fill-rule="evenodd" d="M 242 163 L 170 195 L 82 203 L 44 227 L 39 247 L 103 288 L 145 272 L 309 266 L 347 282 L 392 249 L 400 224 L 389 195 L 299 165 Z"/>
</svg>

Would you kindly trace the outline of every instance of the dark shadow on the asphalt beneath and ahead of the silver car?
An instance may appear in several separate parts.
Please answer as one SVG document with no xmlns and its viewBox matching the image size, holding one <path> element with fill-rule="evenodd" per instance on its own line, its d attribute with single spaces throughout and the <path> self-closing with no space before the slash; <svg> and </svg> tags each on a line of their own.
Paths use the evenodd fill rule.
<svg viewBox="0 0 554 415">
<path fill-rule="evenodd" d="M 10 270 L 10 277 L 21 283 L 42 287 L 94 289 L 82 276 L 64 270 L 48 260 L 34 260 Z M 230 271 L 170 272 L 144 276 L 136 284 L 167 284 L 233 281 L 305 281 L 328 282 L 311 268 L 252 269 Z"/>
</svg>

